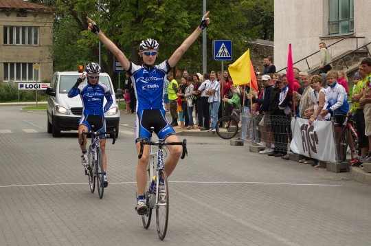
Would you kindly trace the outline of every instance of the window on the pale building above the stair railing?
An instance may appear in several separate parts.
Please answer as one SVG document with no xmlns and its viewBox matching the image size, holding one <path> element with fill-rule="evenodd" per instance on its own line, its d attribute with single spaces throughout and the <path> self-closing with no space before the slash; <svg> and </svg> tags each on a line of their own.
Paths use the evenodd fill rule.
<svg viewBox="0 0 371 246">
<path fill-rule="evenodd" d="M 350 34 L 354 30 L 354 0 L 328 0 L 328 34 Z"/>
</svg>

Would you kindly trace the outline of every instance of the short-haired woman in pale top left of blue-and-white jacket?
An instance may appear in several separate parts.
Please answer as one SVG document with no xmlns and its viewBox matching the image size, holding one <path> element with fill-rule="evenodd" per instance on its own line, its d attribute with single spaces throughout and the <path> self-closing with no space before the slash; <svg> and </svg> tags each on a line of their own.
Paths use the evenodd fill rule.
<svg viewBox="0 0 371 246">
<path fill-rule="evenodd" d="M 315 75 L 311 78 L 311 85 L 313 86 L 314 91 L 312 91 L 312 104 L 311 107 L 306 109 L 305 114 L 310 115 L 309 124 L 313 124 L 315 120 L 329 120 L 330 114 L 328 113 L 324 118 L 321 117 L 320 113 L 324 109 L 324 105 L 326 102 L 325 95 L 326 91 L 323 87 L 324 79 L 322 76 Z"/>
</svg>

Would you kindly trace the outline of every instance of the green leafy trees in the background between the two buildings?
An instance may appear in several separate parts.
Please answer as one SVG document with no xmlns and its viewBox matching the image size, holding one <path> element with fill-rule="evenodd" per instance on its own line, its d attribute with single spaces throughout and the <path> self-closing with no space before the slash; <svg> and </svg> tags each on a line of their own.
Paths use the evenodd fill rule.
<svg viewBox="0 0 371 246">
<path fill-rule="evenodd" d="M 78 64 L 98 61 L 98 38 L 87 31 L 85 16 L 97 22 L 104 34 L 137 64 L 142 63 L 137 54 L 141 40 L 155 38 L 160 43 L 159 61 L 167 59 L 199 25 L 202 16 L 202 3 L 194 0 L 102 0 L 100 3 L 98 12 L 96 1 L 56 0 L 54 69 L 74 70 Z M 236 60 L 249 48 L 248 41 L 273 35 L 273 0 L 214 0 L 209 1 L 207 10 L 212 21 L 207 28 L 208 70 L 220 67 L 220 62 L 212 59 L 213 40 L 232 40 Z M 102 69 L 116 84 L 113 60 L 111 52 L 102 46 Z M 201 36 L 177 67 L 202 70 Z"/>
</svg>

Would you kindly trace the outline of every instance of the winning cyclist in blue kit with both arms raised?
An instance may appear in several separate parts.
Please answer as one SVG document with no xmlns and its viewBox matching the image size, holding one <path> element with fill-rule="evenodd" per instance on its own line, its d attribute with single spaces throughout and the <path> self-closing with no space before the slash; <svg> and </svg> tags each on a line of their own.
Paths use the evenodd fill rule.
<svg viewBox="0 0 371 246">
<path fill-rule="evenodd" d="M 150 127 L 155 128 L 155 133 L 159 139 L 166 139 L 169 142 L 179 142 L 175 131 L 170 126 L 168 120 L 166 120 L 166 109 L 164 104 L 164 80 L 166 74 L 177 65 L 181 56 L 186 50 L 196 41 L 202 30 L 207 27 L 210 23 L 210 19 L 207 18 L 209 12 L 203 16 L 201 23 L 196 30 L 186 38 L 185 41 L 175 50 L 168 60 L 165 60 L 159 65 L 155 65 L 157 56 L 159 55 L 159 43 L 152 38 L 147 38 L 142 41 L 139 45 L 139 56 L 143 59 L 143 65 L 135 65 L 128 61 L 124 53 L 117 48 L 117 46 L 107 38 L 94 21 L 87 17 L 89 21 L 88 29 L 98 36 L 100 41 L 113 55 L 120 61 L 122 67 L 128 71 L 131 76 L 135 87 L 135 94 L 137 96 L 136 105 L 136 119 L 135 119 L 135 143 L 137 146 L 137 152 L 140 151 L 140 141 L 150 140 Z M 180 146 L 167 146 L 170 151 L 170 156 L 166 159 L 165 172 L 168 176 L 171 175 L 175 166 L 181 157 Z M 145 145 L 143 150 L 143 156 L 138 159 L 137 164 L 137 213 L 142 215 L 147 211 L 146 197 L 144 189 L 146 188 L 146 168 L 149 160 L 149 146 Z M 161 192 L 161 181 L 160 181 L 160 192 Z M 159 194 L 160 201 L 164 197 Z"/>
</svg>

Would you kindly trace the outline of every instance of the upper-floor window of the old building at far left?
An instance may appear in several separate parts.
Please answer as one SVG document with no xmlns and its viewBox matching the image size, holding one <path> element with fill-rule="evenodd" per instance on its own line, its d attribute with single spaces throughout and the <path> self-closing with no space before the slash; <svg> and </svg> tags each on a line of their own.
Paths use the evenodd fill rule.
<svg viewBox="0 0 371 246">
<path fill-rule="evenodd" d="M 39 27 L 3 27 L 4 45 L 39 45 Z"/>
</svg>

